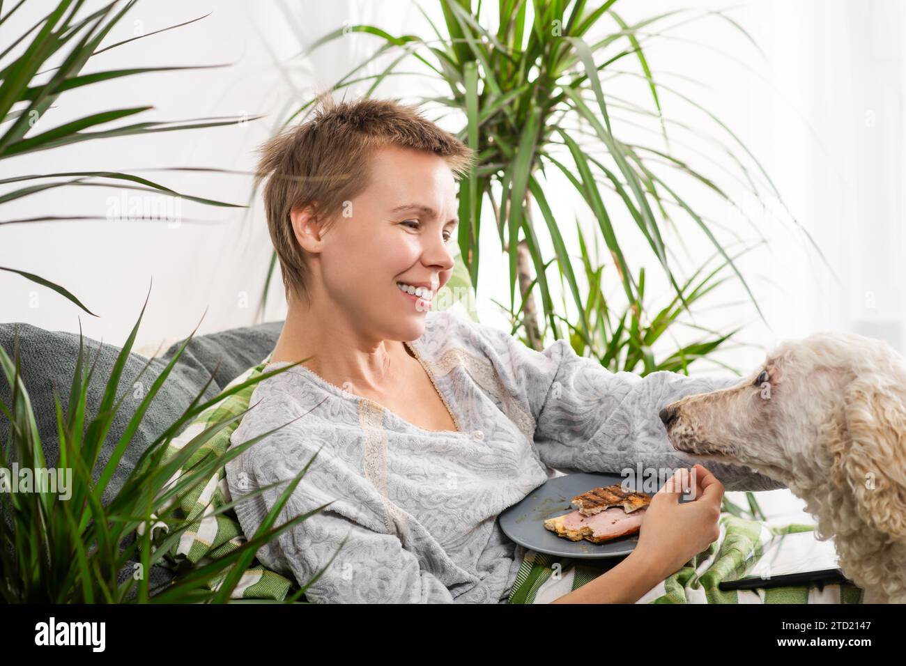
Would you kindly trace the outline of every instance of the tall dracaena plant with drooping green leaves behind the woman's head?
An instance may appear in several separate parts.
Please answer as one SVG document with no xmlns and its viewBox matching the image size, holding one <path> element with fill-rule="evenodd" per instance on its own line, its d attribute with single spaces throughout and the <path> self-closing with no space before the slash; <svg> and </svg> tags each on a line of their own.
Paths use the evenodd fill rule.
<svg viewBox="0 0 906 666">
<path fill-rule="evenodd" d="M 458 114 L 462 121 L 458 138 L 477 152 L 477 165 L 459 187 L 460 255 L 477 286 L 482 211 L 489 206 L 494 221 L 490 233 L 499 238 L 508 263 L 510 303 L 505 309 L 515 326 L 524 331 L 526 343 L 538 349 L 548 332 L 554 339 L 577 333 L 599 357 L 613 344 L 607 337 L 591 349 L 595 335 L 588 300 L 600 300 L 605 294 L 596 285 L 583 283 L 583 275 L 573 266 L 555 207 L 545 191 L 552 170 L 563 174 L 567 187 L 579 195 L 587 217 L 593 220 L 595 235 L 607 247 L 620 284 L 620 293 L 606 294 L 615 307 L 619 309 L 621 302 L 632 307 L 641 300 L 637 266 L 647 257 L 624 252 L 626 236 L 632 233 L 641 234 L 646 252 L 651 252 L 648 256 L 654 257 L 667 277 L 682 311 L 689 312 L 684 293 L 688 285 L 677 276 L 679 260 L 664 233 L 666 227 L 685 217 L 690 230 L 684 233 L 697 231 L 704 242 L 714 246 L 761 316 L 726 243 L 715 234 L 717 225 L 687 202 L 686 189 L 690 183 L 704 188 L 708 195 L 745 215 L 718 185 L 718 175 L 734 171 L 733 177 L 748 190 L 745 196 L 762 202 L 775 198 L 783 209 L 786 206 L 765 169 L 728 125 L 689 95 L 660 82 L 646 54 L 651 43 L 669 39 L 670 30 L 702 16 L 725 20 L 728 29 L 750 41 L 739 24 L 719 11 L 691 10 L 657 14 L 630 24 L 617 13 L 616 0 L 437 1 L 444 19 L 440 25 L 431 21 L 425 3 L 416 2 L 433 34 L 394 35 L 374 25 L 344 25 L 307 45 L 302 56 L 309 57 L 322 44 L 350 33 L 370 34 L 378 44 L 375 53 L 336 82 L 333 90 L 367 84 L 364 94 L 369 96 L 387 77 L 394 76 L 419 82 L 414 90 L 425 88 L 424 77 L 428 77 L 448 91 L 412 97 L 426 109 Z M 661 28 L 671 20 L 673 24 Z M 378 73 L 361 75 L 372 65 L 379 67 Z M 620 97 L 622 88 L 618 91 L 616 83 L 626 79 L 642 82 L 647 99 Z M 690 128 L 671 120 L 661 103 L 665 95 L 691 105 L 701 113 L 704 124 Z M 303 121 L 315 101 L 306 101 L 286 123 Z M 649 130 L 657 140 L 624 138 L 627 128 L 633 126 Z M 708 128 L 718 132 L 716 140 L 728 159 L 726 164 L 717 164 L 714 173 L 694 169 L 670 150 L 671 140 L 673 145 L 682 143 L 676 140 L 678 134 L 700 140 Z M 797 224 L 792 215 L 790 218 Z M 542 235 L 547 236 L 553 257 L 543 256 Z M 569 294 L 577 313 L 568 330 L 562 325 L 565 302 L 558 312 L 551 293 L 547 271 L 552 265 L 561 277 L 562 293 Z M 516 284 L 522 301 L 518 308 Z M 540 313 L 535 295 L 540 296 Z"/>
</svg>

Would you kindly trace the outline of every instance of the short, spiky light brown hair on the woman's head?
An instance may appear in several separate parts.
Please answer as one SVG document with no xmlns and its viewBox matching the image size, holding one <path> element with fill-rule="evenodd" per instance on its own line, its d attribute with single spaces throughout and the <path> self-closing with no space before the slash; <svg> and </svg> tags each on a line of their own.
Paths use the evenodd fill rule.
<svg viewBox="0 0 906 666">
<path fill-rule="evenodd" d="M 475 159 L 474 150 L 414 106 L 368 98 L 337 102 L 329 91 L 318 96 L 310 121 L 285 128 L 260 147 L 256 178 L 267 179 L 267 227 L 287 302 L 291 293 L 310 297 L 310 269 L 290 211 L 313 206 L 323 229 L 331 227 L 343 203 L 368 187 L 371 154 L 383 146 L 433 152 L 447 161 L 457 179 Z"/>
</svg>

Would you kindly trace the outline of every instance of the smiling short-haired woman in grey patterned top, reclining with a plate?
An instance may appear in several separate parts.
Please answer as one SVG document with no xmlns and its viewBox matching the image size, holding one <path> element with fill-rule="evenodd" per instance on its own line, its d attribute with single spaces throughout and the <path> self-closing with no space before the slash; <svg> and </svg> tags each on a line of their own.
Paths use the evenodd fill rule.
<svg viewBox="0 0 906 666">
<path fill-rule="evenodd" d="M 265 144 L 265 209 L 289 306 L 269 369 L 233 434 L 231 495 L 304 477 L 258 551 L 316 603 L 506 603 L 525 548 L 496 522 L 555 475 L 689 467 L 658 420 L 682 395 L 735 380 L 613 374 L 564 341 L 528 349 L 431 310 L 454 262 L 456 179 L 472 153 L 410 107 L 322 100 Z M 280 428 L 281 426 L 285 426 Z M 717 536 L 723 483 L 781 487 L 743 468 L 696 468 L 698 499 L 658 493 L 638 547 L 558 602 L 634 602 Z M 255 535 L 285 485 L 236 514 Z"/>
</svg>

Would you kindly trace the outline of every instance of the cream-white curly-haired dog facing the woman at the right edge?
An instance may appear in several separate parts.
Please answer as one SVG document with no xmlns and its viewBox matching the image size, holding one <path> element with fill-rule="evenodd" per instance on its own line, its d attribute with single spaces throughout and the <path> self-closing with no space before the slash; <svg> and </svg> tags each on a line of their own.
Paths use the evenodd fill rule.
<svg viewBox="0 0 906 666">
<path fill-rule="evenodd" d="M 890 345 L 845 333 L 783 343 L 737 385 L 660 418 L 675 449 L 803 498 L 866 603 L 906 603 L 906 363 Z"/>
</svg>

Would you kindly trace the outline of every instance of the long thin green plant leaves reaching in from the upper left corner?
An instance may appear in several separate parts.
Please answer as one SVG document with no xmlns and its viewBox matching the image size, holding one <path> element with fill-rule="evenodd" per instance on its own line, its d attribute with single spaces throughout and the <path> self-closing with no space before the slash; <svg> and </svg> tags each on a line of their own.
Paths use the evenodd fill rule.
<svg viewBox="0 0 906 666">
<path fill-rule="evenodd" d="M 82 141 L 218 127 L 260 118 L 260 116 L 252 118 L 236 116 L 219 119 L 198 118 L 190 121 L 142 121 L 111 126 L 111 123 L 123 121 L 153 109 L 152 106 L 135 105 L 113 110 L 99 109 L 83 118 L 64 122 L 55 127 L 47 127 L 47 121 L 44 120 L 45 112 L 52 106 L 65 106 L 67 92 L 149 72 L 225 66 L 128 67 L 82 73 L 85 65 L 91 63 L 92 58 L 100 53 L 110 51 L 125 43 L 195 23 L 205 17 L 200 16 L 182 24 L 170 25 L 148 34 L 139 34 L 130 39 L 102 46 L 101 43 L 111 34 L 111 29 L 120 24 L 125 14 L 137 2 L 138 0 L 129 0 L 129 2 L 121 4 L 120 0 L 116 0 L 101 5 L 90 13 L 84 13 L 82 12 L 84 0 L 60 0 L 55 6 L 51 5 L 50 11 L 46 11 L 50 4 L 43 0 L 19 0 L 8 11 L 5 11 L 5 3 L 0 0 L 0 160 L 3 160 L 6 172 L 10 172 L 14 165 L 14 162 L 6 160 L 37 151 L 53 153 L 54 149 L 61 146 Z M 119 9 L 117 5 L 121 5 Z M 43 15 L 21 34 L 11 34 L 8 22 L 23 8 L 24 11 L 33 8 L 40 10 Z M 47 162 L 52 164 L 53 158 L 48 159 Z M 178 170 L 178 168 L 161 170 Z M 223 169 L 195 168 L 192 170 L 222 171 Z M 0 179 L 0 185 L 8 186 L 7 190 L 0 194 L 0 216 L 2 216 L 3 204 L 26 197 L 31 198 L 48 190 L 62 187 L 125 188 L 186 198 L 210 206 L 244 208 L 236 204 L 181 193 L 135 174 L 111 170 L 20 173 Z M 18 219 L 5 217 L 8 216 L 0 217 L 0 227 L 45 221 L 103 219 L 105 216 L 42 214 Z M 2 229 L 0 229 L 0 242 L 2 242 Z M 63 285 L 55 284 L 41 275 L 34 275 L 21 268 L 0 266 L 0 270 L 22 275 L 25 279 L 53 289 L 86 313 L 95 316 Z"/>
</svg>

